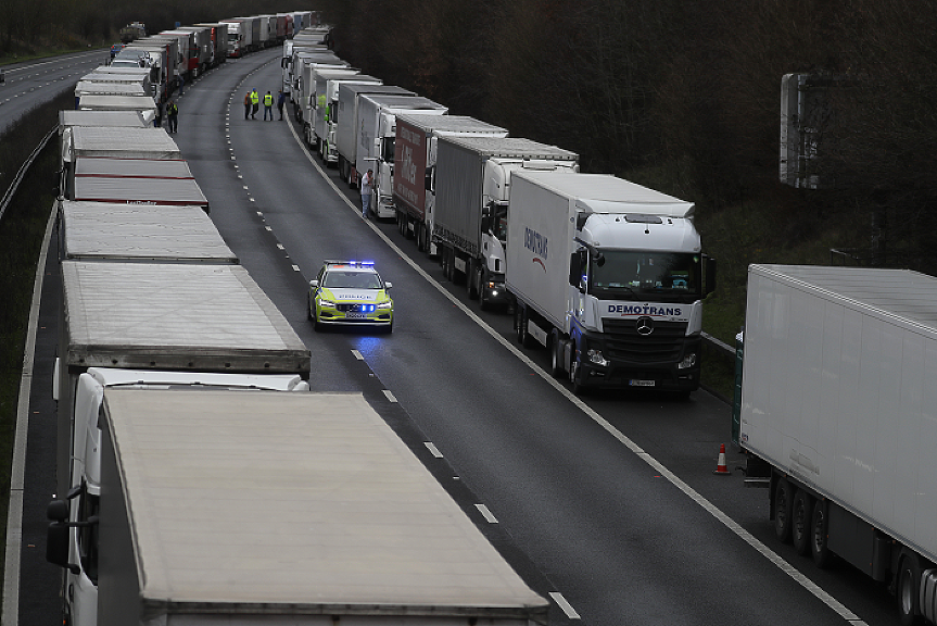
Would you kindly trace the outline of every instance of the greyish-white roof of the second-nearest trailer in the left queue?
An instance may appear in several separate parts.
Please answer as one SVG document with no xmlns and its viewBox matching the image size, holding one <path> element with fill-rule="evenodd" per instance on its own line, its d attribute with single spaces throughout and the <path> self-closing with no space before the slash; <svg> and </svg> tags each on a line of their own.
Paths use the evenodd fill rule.
<svg viewBox="0 0 937 626">
<path fill-rule="evenodd" d="M 66 364 L 299 373 L 309 351 L 240 265 L 63 261 Z"/>
</svg>

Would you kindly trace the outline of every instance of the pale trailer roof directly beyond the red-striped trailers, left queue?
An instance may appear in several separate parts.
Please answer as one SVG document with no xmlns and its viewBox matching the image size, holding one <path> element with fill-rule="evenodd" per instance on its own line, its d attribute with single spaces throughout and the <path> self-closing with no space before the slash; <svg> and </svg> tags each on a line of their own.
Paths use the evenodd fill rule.
<svg viewBox="0 0 937 626">
<path fill-rule="evenodd" d="M 150 98 L 152 100 L 152 98 Z M 110 128 L 76 126 L 72 130 L 74 156 L 123 159 L 181 159 L 179 147 L 165 128 Z"/>
</svg>

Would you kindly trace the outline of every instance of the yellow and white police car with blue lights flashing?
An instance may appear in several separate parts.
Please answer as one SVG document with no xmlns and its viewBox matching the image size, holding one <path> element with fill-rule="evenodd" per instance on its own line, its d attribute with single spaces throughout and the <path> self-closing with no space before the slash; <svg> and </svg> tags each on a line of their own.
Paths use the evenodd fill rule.
<svg viewBox="0 0 937 626">
<path fill-rule="evenodd" d="M 394 327 L 391 284 L 369 261 L 326 261 L 309 280 L 308 315 L 315 329 L 327 325 Z"/>
</svg>

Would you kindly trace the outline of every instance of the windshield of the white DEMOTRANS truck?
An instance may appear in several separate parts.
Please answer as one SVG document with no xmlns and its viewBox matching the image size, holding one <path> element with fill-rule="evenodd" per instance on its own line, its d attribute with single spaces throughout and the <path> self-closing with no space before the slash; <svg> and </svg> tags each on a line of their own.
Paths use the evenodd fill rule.
<svg viewBox="0 0 937 626">
<path fill-rule="evenodd" d="M 603 251 L 590 260 L 590 292 L 610 300 L 684 301 L 700 295 L 700 254 Z"/>
</svg>

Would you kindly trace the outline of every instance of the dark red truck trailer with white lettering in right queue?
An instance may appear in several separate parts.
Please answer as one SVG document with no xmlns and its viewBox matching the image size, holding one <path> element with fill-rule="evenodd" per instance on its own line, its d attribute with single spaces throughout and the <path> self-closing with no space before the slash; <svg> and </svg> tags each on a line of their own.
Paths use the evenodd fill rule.
<svg viewBox="0 0 937 626">
<path fill-rule="evenodd" d="M 435 254 L 432 242 L 435 165 L 440 137 L 507 137 L 507 129 L 461 115 L 400 114 L 394 140 L 392 197 L 397 224 L 417 248 Z"/>
</svg>

